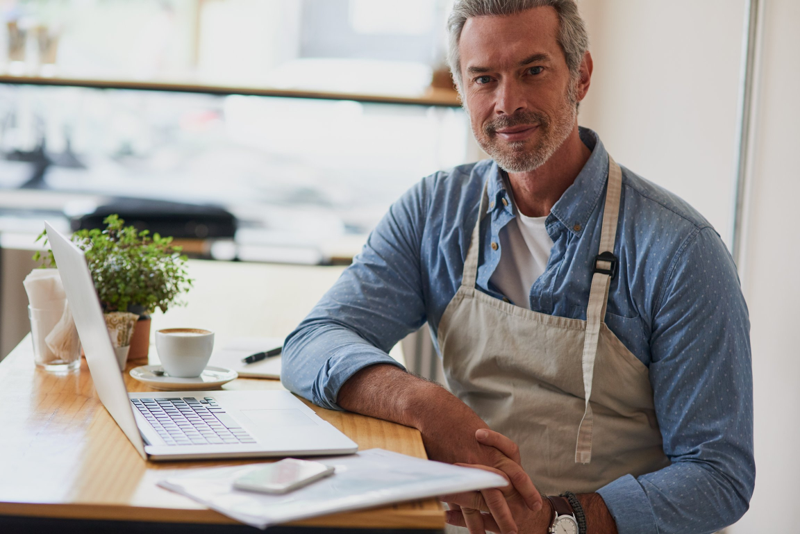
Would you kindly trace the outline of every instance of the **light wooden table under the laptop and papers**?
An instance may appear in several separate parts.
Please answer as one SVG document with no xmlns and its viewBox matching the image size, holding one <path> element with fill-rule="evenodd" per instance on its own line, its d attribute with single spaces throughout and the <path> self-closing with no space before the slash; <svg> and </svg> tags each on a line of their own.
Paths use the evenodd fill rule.
<svg viewBox="0 0 800 534">
<path fill-rule="evenodd" d="M 82 361 L 80 372 L 62 376 L 36 369 L 33 362 L 30 337 L 26 337 L 0 363 L 0 532 L 39 532 L 45 528 L 59 534 L 252 530 L 244 526 L 222 528 L 220 525 L 236 522 L 156 486 L 158 480 L 182 469 L 247 461 L 146 462 L 100 403 L 86 361 Z M 152 391 L 127 373 L 125 377 L 130 391 Z M 280 388 L 278 381 L 247 379 L 224 386 Z M 413 428 L 313 405 L 311 408 L 361 449 L 380 447 L 426 457 L 419 432 Z M 58 524 L 46 518 L 57 518 Z M 69 520 L 82 522 L 75 526 Z M 150 523 L 142 526 L 139 522 Z M 359 532 L 418 532 L 443 527 L 440 504 L 425 500 L 302 520 L 271 532 L 318 532 L 318 528 L 334 532 L 352 528 L 366 529 Z"/>
</svg>

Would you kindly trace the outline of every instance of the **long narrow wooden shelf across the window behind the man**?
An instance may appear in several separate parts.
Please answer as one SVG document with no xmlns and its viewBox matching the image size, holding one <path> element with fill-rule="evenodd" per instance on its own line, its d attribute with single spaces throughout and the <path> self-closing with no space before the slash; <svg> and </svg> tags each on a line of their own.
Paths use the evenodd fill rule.
<svg viewBox="0 0 800 534">
<path fill-rule="evenodd" d="M 322 100 L 354 100 L 380 104 L 405 104 L 410 106 L 460 107 L 455 90 L 429 87 L 419 96 L 392 96 L 383 94 L 328 93 L 308 90 L 283 90 L 268 87 L 218 86 L 185 82 L 135 82 L 129 80 L 93 80 L 86 78 L 41 78 L 0 75 L 0 83 L 26 86 L 88 87 L 91 89 L 122 89 L 144 91 L 172 91 L 176 93 L 242 94 L 260 97 L 316 98 Z"/>
</svg>

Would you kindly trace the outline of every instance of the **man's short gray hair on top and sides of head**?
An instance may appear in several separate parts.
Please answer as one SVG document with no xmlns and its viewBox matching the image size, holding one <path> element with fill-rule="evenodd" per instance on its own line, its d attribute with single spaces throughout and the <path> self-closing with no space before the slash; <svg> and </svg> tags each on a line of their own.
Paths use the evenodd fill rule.
<svg viewBox="0 0 800 534">
<path fill-rule="evenodd" d="M 575 0 L 457 0 L 447 21 L 447 30 L 450 34 L 447 62 L 450 63 L 450 72 L 453 73 L 458 90 L 462 90 L 458 41 L 461 39 L 461 31 L 468 18 L 486 15 L 506 16 L 545 6 L 553 7 L 558 14 L 558 20 L 561 22 L 558 44 L 564 52 L 566 66 L 573 77 L 576 77 L 583 55 L 589 48 L 589 36 L 586 34 L 586 25 L 578 14 L 578 4 Z"/>
</svg>

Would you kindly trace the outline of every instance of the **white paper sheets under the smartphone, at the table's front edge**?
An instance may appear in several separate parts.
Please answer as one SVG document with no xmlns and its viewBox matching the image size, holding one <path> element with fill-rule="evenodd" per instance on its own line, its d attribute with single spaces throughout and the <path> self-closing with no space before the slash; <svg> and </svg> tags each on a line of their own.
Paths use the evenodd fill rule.
<svg viewBox="0 0 800 534">
<path fill-rule="evenodd" d="M 422 460 L 381 448 L 316 460 L 334 466 L 334 475 L 285 495 L 233 488 L 235 478 L 263 464 L 194 469 L 161 480 L 158 485 L 257 528 L 506 485 L 506 479 L 493 472 Z"/>
</svg>

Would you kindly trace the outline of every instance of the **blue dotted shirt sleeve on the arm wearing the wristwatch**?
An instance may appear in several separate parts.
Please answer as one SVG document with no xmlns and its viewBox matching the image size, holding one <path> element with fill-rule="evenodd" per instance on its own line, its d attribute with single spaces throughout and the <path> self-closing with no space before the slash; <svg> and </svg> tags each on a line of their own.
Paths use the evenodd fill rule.
<svg viewBox="0 0 800 534">
<path fill-rule="evenodd" d="M 678 250 L 653 317 L 650 382 L 672 464 L 598 492 L 619 534 L 715 532 L 746 512 L 755 464 L 750 321 L 713 229 Z"/>
</svg>

